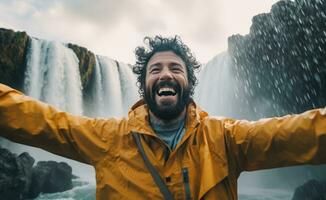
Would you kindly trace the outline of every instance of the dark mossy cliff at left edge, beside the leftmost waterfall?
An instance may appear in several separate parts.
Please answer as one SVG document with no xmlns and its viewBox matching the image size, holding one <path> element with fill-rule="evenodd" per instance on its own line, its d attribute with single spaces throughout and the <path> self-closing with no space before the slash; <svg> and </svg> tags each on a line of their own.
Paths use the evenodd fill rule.
<svg viewBox="0 0 326 200">
<path fill-rule="evenodd" d="M 21 89 L 30 39 L 25 32 L 0 28 L 0 82 Z"/>
</svg>

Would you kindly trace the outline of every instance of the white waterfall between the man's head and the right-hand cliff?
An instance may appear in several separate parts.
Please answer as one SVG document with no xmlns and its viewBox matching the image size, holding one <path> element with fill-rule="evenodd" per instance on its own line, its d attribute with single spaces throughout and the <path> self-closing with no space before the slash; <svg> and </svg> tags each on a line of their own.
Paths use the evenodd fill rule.
<svg viewBox="0 0 326 200">
<path fill-rule="evenodd" d="M 223 52 L 215 56 L 198 75 L 195 91 L 198 105 L 210 115 L 236 117 L 240 105 L 235 103 L 236 80 L 233 77 L 229 54 Z"/>
</svg>

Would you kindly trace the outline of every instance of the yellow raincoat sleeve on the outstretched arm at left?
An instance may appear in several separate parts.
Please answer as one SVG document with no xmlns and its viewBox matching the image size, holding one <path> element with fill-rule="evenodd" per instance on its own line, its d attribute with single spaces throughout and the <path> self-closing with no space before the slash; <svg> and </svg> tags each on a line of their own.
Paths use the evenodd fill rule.
<svg viewBox="0 0 326 200">
<path fill-rule="evenodd" d="M 92 164 L 110 152 L 121 120 L 74 116 L 0 84 L 0 136 Z"/>
</svg>

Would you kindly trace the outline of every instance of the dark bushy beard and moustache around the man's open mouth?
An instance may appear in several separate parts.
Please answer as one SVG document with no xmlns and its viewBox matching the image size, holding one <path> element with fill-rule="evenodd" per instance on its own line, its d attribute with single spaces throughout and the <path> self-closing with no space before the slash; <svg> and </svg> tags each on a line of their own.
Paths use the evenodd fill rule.
<svg viewBox="0 0 326 200">
<path fill-rule="evenodd" d="M 175 104 L 172 103 L 163 103 L 162 105 L 158 105 L 155 96 L 158 92 L 158 90 L 163 87 L 172 87 L 177 95 L 178 99 Z M 155 83 L 152 91 L 149 89 L 145 89 L 145 96 L 144 96 L 145 102 L 148 105 L 149 110 L 158 118 L 163 120 L 171 120 L 177 118 L 181 112 L 185 109 L 185 107 L 188 105 L 190 100 L 190 88 L 189 86 L 187 88 L 181 88 L 181 86 L 172 81 L 164 81 Z"/>
</svg>

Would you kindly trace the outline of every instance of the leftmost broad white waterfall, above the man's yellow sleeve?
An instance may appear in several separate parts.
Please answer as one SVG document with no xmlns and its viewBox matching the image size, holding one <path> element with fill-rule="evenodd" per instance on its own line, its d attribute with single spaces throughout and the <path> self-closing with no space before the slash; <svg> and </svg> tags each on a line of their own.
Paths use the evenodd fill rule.
<svg viewBox="0 0 326 200">
<path fill-rule="evenodd" d="M 32 38 L 24 90 L 29 96 L 81 115 L 82 86 L 78 58 L 59 42 Z"/>
</svg>

